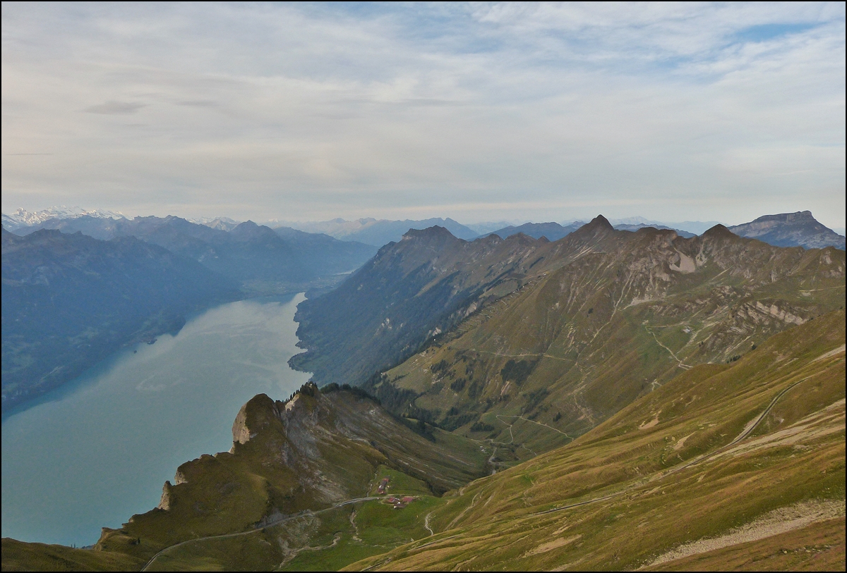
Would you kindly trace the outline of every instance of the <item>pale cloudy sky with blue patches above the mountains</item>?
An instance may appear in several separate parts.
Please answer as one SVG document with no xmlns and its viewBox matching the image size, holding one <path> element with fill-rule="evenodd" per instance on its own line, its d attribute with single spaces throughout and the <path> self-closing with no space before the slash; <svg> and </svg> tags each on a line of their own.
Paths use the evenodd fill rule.
<svg viewBox="0 0 847 573">
<path fill-rule="evenodd" d="M 4 213 L 844 226 L 844 3 L 2 12 Z"/>
</svg>

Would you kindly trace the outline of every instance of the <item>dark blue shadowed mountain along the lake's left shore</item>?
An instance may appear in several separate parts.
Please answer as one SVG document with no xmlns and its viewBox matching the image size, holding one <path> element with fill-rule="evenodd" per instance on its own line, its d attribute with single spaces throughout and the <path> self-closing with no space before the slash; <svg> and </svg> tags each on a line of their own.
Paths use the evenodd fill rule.
<svg viewBox="0 0 847 573">
<path fill-rule="evenodd" d="M 135 237 L 3 229 L 3 412 L 239 297 L 235 282 Z"/>
</svg>

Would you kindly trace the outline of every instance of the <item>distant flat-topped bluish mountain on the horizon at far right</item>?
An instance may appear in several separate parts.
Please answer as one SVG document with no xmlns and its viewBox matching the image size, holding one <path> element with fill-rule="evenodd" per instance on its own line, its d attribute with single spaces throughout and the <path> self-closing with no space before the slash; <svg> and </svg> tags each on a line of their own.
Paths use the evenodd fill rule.
<svg viewBox="0 0 847 573">
<path fill-rule="evenodd" d="M 844 250 L 844 236 L 817 222 L 811 211 L 761 216 L 756 221 L 730 226 L 739 237 L 757 238 L 777 247 L 823 248 Z"/>
</svg>

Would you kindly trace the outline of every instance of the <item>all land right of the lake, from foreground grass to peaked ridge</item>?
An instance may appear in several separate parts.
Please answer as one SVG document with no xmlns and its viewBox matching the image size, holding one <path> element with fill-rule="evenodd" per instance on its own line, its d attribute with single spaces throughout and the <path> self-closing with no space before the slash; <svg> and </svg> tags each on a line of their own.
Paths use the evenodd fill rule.
<svg viewBox="0 0 847 573">
<path fill-rule="evenodd" d="M 411 231 L 298 308 L 322 388 L 247 401 L 95 551 L 4 539 L 4 568 L 838 566 L 844 266 L 720 226 Z M 343 364 L 400 359 L 357 388 L 314 341 L 363 328 Z"/>
</svg>

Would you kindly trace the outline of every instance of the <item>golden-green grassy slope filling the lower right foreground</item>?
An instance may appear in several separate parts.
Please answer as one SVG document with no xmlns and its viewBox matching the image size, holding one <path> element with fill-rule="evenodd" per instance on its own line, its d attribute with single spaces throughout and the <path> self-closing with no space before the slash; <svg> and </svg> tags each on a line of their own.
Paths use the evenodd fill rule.
<svg viewBox="0 0 847 573">
<path fill-rule="evenodd" d="M 446 496 L 430 519 L 434 537 L 350 569 L 620 570 L 776 508 L 843 503 L 844 352 L 820 358 L 843 344 L 839 310 L 773 336 L 737 362 L 692 368 L 572 445 Z M 685 467 L 728 445 L 796 382 L 753 436 Z M 834 559 L 843 569 L 843 521 L 815 527 L 785 533 L 780 543 L 766 538 L 751 551 L 774 567 L 826 568 Z M 783 549 L 805 551 L 813 534 L 836 540 L 828 557 L 805 565 L 778 559 Z M 711 568 L 747 563 L 731 549 L 712 553 L 701 557 Z"/>
</svg>

